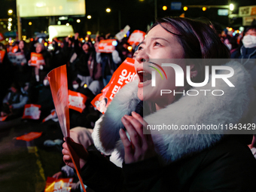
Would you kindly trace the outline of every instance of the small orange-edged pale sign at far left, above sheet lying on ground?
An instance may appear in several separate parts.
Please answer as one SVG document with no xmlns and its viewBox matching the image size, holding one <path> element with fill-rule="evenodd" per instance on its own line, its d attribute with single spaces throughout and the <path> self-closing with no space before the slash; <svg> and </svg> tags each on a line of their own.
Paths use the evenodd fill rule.
<svg viewBox="0 0 256 192">
<path fill-rule="evenodd" d="M 26 104 L 24 106 L 23 119 L 38 120 L 41 114 L 40 108 L 41 105 Z"/>
</svg>

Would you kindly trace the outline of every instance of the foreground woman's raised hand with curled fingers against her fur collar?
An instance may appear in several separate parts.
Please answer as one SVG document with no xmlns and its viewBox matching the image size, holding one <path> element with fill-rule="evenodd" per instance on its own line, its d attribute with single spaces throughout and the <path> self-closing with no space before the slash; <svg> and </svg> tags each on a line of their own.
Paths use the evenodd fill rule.
<svg viewBox="0 0 256 192">
<path fill-rule="evenodd" d="M 125 152 L 124 162 L 135 163 L 154 157 L 156 155 L 154 142 L 151 134 L 143 134 L 143 127 L 147 127 L 148 123 L 142 116 L 133 111 L 132 116 L 124 115 L 121 120 L 130 136 L 129 140 L 125 131 L 120 129 L 120 138 Z"/>
</svg>

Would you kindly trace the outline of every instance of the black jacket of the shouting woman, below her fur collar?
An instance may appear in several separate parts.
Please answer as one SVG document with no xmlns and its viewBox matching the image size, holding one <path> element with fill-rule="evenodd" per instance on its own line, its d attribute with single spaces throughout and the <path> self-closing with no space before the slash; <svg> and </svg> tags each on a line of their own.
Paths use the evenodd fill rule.
<svg viewBox="0 0 256 192">
<path fill-rule="evenodd" d="M 152 157 L 121 169 L 93 146 L 88 151 L 82 177 L 94 191 L 254 191 L 256 160 L 233 137 L 168 166 Z"/>
</svg>

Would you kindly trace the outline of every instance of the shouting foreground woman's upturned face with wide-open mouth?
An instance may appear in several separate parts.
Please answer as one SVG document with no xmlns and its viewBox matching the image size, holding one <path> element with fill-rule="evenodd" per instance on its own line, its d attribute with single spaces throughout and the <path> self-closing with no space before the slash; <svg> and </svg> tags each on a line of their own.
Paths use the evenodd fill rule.
<svg viewBox="0 0 256 192">
<path fill-rule="evenodd" d="M 169 24 L 162 23 L 164 27 L 171 32 L 175 30 Z M 163 72 L 154 64 L 145 61 L 151 61 L 161 66 L 163 59 L 182 59 L 184 58 L 184 49 L 176 39 L 175 35 L 167 32 L 162 26 L 157 25 L 148 32 L 145 40 L 139 46 L 138 54 L 136 55 L 135 67 L 136 72 L 139 75 L 138 96 L 141 100 L 148 100 L 156 102 L 159 105 L 167 105 L 174 101 L 175 96 L 173 94 L 163 94 L 160 96 L 160 90 L 183 90 L 184 87 L 175 87 L 175 71 L 172 67 L 163 67 L 166 72 L 167 79 Z M 153 59 L 153 60 L 152 60 Z M 161 60 L 162 59 L 162 60 Z M 177 63 L 178 64 L 178 63 Z M 178 64 L 186 72 L 186 66 L 183 62 Z M 153 68 L 160 70 L 163 75 L 163 79 L 160 74 Z M 151 72 L 155 71 L 156 85 L 151 86 Z M 149 78 L 143 78 L 148 76 Z"/>
</svg>

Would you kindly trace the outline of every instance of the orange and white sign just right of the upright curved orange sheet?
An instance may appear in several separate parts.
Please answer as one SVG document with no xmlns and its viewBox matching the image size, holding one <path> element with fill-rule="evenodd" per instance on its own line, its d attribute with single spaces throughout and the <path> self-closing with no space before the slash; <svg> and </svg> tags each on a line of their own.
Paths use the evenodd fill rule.
<svg viewBox="0 0 256 192">
<path fill-rule="evenodd" d="M 87 96 L 84 94 L 69 90 L 69 108 L 83 112 L 86 100 Z"/>
</svg>

